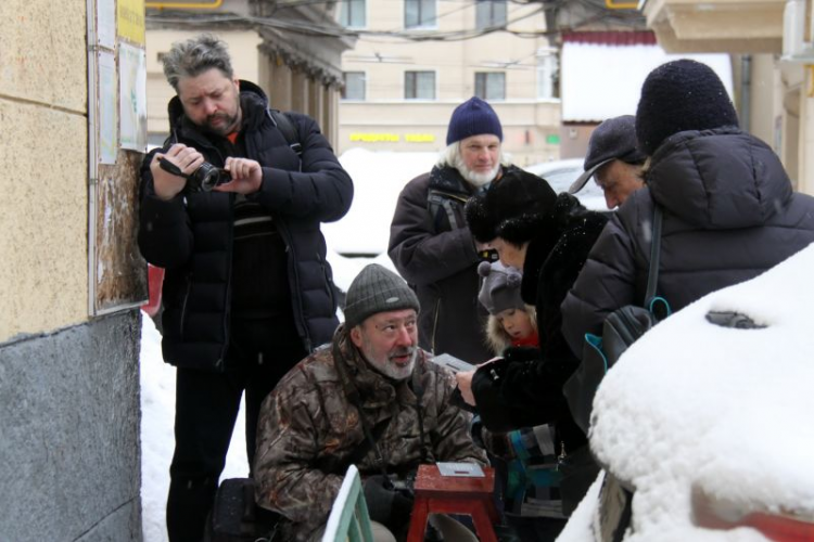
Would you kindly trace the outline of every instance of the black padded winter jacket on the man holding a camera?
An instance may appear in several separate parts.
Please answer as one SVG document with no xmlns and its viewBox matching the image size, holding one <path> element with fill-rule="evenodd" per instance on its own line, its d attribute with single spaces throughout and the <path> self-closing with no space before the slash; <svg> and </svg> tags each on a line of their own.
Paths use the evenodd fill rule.
<svg viewBox="0 0 814 542">
<path fill-rule="evenodd" d="M 339 220 L 353 198 L 353 182 L 319 127 L 306 115 L 288 113 L 303 153 L 297 158 L 268 113 L 255 85 L 241 81 L 245 157 L 263 166 L 260 190 L 250 195 L 271 214 L 285 243 L 288 280 L 296 330 L 308 350 L 331 339 L 339 321 L 331 268 L 320 222 Z M 215 166 L 226 156 L 183 114 L 178 96 L 169 102 L 173 136 L 200 151 Z M 149 154 L 141 167 L 139 248 L 166 269 L 163 288 L 162 349 L 168 363 L 222 369 L 230 326 L 230 279 L 234 194 L 181 192 L 155 196 Z"/>
</svg>

